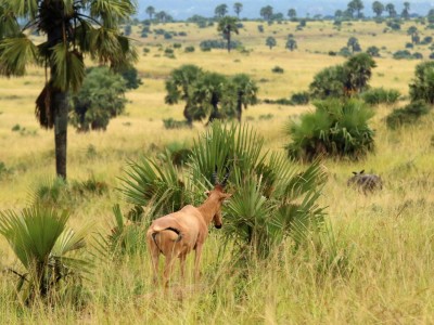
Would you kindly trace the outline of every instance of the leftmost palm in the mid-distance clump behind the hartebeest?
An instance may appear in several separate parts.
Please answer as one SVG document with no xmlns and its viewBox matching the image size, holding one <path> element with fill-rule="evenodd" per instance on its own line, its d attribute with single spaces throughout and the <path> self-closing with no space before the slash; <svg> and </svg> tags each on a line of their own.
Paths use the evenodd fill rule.
<svg viewBox="0 0 434 325">
<path fill-rule="evenodd" d="M 183 116 L 191 126 L 194 119 L 194 104 L 192 102 L 192 84 L 201 78 L 203 72 L 200 67 L 188 64 L 171 72 L 166 81 L 167 95 L 165 102 L 169 105 L 178 103 L 179 100 L 186 101 Z"/>
</svg>

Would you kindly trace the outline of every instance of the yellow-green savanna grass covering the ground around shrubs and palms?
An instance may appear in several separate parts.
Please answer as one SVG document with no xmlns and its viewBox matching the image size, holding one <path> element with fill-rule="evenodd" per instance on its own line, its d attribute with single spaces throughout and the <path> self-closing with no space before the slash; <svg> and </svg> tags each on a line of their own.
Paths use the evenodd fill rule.
<svg viewBox="0 0 434 325">
<path fill-rule="evenodd" d="M 373 22 L 344 23 L 341 30 L 330 22 L 307 23 L 296 30 L 296 23 L 243 23 L 240 35 L 246 53 L 224 50 L 202 52 L 199 42 L 217 39 L 216 26 L 197 28 L 194 24 L 175 23 L 152 28 L 186 31 L 165 40 L 163 36 L 140 38 L 139 26 L 131 37 L 137 40 L 140 60 L 137 68 L 143 84 L 127 94 L 127 114 L 112 120 L 106 132 L 68 133 L 68 178 L 85 181 L 91 177 L 104 181 L 110 190 L 102 196 L 79 197 L 72 208 L 72 225 L 93 221 L 95 229 L 108 232 L 112 206 L 123 203 L 116 187 L 128 159 L 156 155 L 170 143 L 191 143 L 205 129 L 165 130 L 164 118 L 182 119 L 182 103 L 164 103 L 164 81 L 171 69 L 192 63 L 204 69 L 227 75 L 250 74 L 259 86 L 259 98 L 289 98 L 306 90 L 314 75 L 323 67 L 344 62 L 330 56 L 350 36 L 359 39 L 362 49 L 376 46 L 382 57 L 375 58 L 373 87 L 397 89 L 408 95 L 408 83 L 420 61 L 397 61 L 392 53 L 403 50 L 410 40 L 406 34 L 414 22 L 400 31 L 383 32 L 385 24 Z M 432 32 L 417 25 L 421 38 Z M 284 50 L 289 34 L 297 40 L 294 52 Z M 278 47 L 269 50 L 265 39 L 273 36 Z M 164 56 L 164 49 L 179 42 L 176 58 Z M 158 46 L 159 44 L 159 46 Z M 184 53 L 186 46 L 195 52 Z M 150 49 L 143 53 L 143 48 Z M 427 58 L 429 46 L 417 46 L 411 52 Z M 283 74 L 271 69 L 280 66 Z M 54 176 L 53 132 L 40 129 L 35 117 L 35 99 L 44 82 L 44 72 L 31 67 L 24 78 L 0 79 L 0 208 L 22 209 L 31 202 L 39 184 Z M 404 105 L 406 100 L 399 105 Z M 283 126 L 312 106 L 259 104 L 243 113 L 266 139 L 266 147 L 283 151 L 290 141 Z M 98 263 L 86 283 L 88 303 L 73 310 L 69 306 L 46 309 L 23 308 L 13 299 L 15 280 L 0 277 L 0 314 L 8 324 L 360 324 L 360 323 L 434 323 L 434 118 L 424 117 L 417 126 L 391 131 L 383 118 L 393 109 L 375 107 L 375 153 L 361 161 L 326 159 L 328 174 L 321 205 L 337 240 L 337 256 L 348 259 L 350 272 L 345 275 L 318 272 L 321 256 L 306 248 L 294 255 L 284 243 L 269 261 L 251 265 L 248 275 L 239 274 L 228 256 L 218 262 L 219 234 L 212 231 L 205 244 L 202 282 L 182 289 L 177 277 L 169 298 L 151 284 L 149 257 L 138 253 L 123 261 Z M 268 118 L 265 118 L 268 115 Z M 20 126 L 20 130 L 16 126 Z M 15 127 L 15 128 L 14 128 Z M 297 162 L 294 162 L 297 164 Z M 346 186 L 353 170 L 372 171 L 384 180 L 384 190 L 365 196 Z M 1 169 L 0 169 L 1 171 Z M 0 238 L 0 266 L 20 266 L 8 244 Z M 192 269 L 189 260 L 188 270 Z M 181 299 L 182 297 L 182 299 Z"/>
</svg>

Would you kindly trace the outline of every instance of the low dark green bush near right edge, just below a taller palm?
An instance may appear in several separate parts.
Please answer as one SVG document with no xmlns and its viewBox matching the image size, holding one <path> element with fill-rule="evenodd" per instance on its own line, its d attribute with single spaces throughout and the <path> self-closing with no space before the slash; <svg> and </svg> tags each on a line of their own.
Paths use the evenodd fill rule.
<svg viewBox="0 0 434 325">
<path fill-rule="evenodd" d="M 394 109 L 386 117 L 386 125 L 391 129 L 397 129 L 405 125 L 417 122 L 423 115 L 430 112 L 430 106 L 423 101 L 416 101 L 404 108 Z"/>
</svg>

